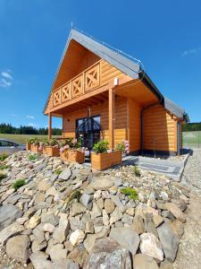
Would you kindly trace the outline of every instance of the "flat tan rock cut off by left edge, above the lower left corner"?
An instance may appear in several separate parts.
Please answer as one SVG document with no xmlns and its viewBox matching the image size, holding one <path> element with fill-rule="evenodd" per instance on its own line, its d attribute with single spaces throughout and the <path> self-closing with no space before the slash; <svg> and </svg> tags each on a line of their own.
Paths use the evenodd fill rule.
<svg viewBox="0 0 201 269">
<path fill-rule="evenodd" d="M 0 231 L 0 244 L 4 245 L 8 239 L 21 233 L 23 230 L 25 230 L 23 225 L 20 225 L 17 222 L 13 222 L 13 224 Z"/>
</svg>

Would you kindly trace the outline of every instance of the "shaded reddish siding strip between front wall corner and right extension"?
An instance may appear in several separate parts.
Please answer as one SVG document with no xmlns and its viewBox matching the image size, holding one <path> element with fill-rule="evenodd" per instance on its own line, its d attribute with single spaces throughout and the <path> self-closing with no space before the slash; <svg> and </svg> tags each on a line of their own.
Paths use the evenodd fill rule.
<svg viewBox="0 0 201 269">
<path fill-rule="evenodd" d="M 128 100 L 130 152 L 138 152 L 141 146 L 141 106 L 134 100 Z"/>
</svg>

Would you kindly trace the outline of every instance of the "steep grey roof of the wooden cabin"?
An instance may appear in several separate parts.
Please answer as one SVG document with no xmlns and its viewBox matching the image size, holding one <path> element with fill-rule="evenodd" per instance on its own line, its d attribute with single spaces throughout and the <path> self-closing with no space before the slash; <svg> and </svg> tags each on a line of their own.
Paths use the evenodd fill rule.
<svg viewBox="0 0 201 269">
<path fill-rule="evenodd" d="M 104 59 L 111 65 L 115 66 L 117 69 L 121 70 L 122 73 L 130 75 L 130 77 L 132 77 L 133 79 L 138 79 L 142 76 L 142 70 L 140 69 L 139 64 L 136 63 L 134 59 L 130 59 L 130 56 L 122 55 L 121 52 L 115 51 L 113 48 L 108 48 L 106 45 L 101 44 L 95 39 L 88 37 L 86 34 L 83 34 L 79 30 L 71 29 L 69 38 L 67 39 L 66 46 L 63 51 L 63 56 L 60 60 L 60 64 L 54 77 L 54 82 L 57 78 L 57 74 L 63 63 L 63 58 L 66 54 L 67 49 L 69 48 L 69 44 L 72 39 L 80 43 L 80 45 L 82 45 L 84 48 L 88 48 L 88 50 L 92 51 L 97 56 L 100 56 L 102 59 Z M 150 91 L 153 91 L 159 100 L 163 100 L 164 108 L 172 112 L 172 114 L 174 114 L 176 117 L 184 117 L 186 115 L 185 111 L 182 108 L 178 107 L 171 100 L 168 100 L 163 97 L 162 93 L 156 88 L 154 82 L 151 81 L 147 74 L 143 74 L 143 81 L 147 82 Z M 49 93 L 49 97 L 50 94 L 51 91 Z M 46 101 L 46 106 L 49 97 Z"/>
</svg>

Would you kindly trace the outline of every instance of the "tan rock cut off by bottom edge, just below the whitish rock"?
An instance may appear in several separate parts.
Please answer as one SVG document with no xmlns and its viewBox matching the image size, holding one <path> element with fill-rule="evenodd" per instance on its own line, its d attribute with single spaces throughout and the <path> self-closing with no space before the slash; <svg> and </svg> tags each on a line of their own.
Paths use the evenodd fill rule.
<svg viewBox="0 0 201 269">
<path fill-rule="evenodd" d="M 133 259 L 134 269 L 158 269 L 155 259 L 144 254 L 137 254 Z"/>
</svg>

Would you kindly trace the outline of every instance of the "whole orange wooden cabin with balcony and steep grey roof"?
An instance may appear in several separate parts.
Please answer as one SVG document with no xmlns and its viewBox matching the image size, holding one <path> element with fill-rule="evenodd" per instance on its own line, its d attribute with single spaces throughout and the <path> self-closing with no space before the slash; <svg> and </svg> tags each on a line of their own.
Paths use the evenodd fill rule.
<svg viewBox="0 0 201 269">
<path fill-rule="evenodd" d="M 79 130 L 90 146 L 105 139 L 110 149 L 126 140 L 130 154 L 179 154 L 188 121 L 136 61 L 78 30 L 71 30 L 44 113 L 49 139 L 52 117 L 62 117 L 63 137 Z"/>
</svg>

